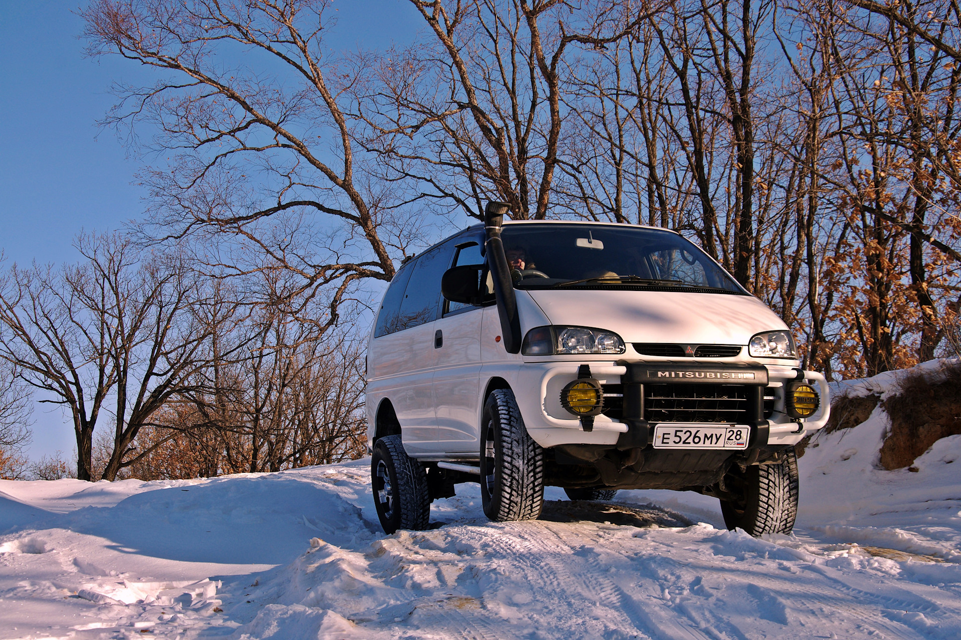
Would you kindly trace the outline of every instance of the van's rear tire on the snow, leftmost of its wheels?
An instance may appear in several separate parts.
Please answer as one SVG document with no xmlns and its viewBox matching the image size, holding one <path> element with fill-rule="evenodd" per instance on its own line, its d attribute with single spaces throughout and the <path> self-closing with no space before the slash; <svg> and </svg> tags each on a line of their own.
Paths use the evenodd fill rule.
<svg viewBox="0 0 961 640">
<path fill-rule="evenodd" d="M 400 435 L 385 435 L 374 445 L 370 461 L 374 505 L 387 533 L 427 529 L 431 497 L 424 465 L 407 455 Z"/>
</svg>

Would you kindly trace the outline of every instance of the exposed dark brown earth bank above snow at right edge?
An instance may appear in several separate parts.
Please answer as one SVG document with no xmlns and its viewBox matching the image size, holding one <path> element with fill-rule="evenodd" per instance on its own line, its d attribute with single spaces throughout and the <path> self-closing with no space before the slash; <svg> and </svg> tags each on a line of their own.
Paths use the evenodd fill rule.
<svg viewBox="0 0 961 640">
<path fill-rule="evenodd" d="M 899 381 L 899 389 L 884 401 L 891 431 L 880 465 L 889 470 L 912 464 L 937 440 L 961 433 L 961 364 L 912 373 Z"/>
</svg>

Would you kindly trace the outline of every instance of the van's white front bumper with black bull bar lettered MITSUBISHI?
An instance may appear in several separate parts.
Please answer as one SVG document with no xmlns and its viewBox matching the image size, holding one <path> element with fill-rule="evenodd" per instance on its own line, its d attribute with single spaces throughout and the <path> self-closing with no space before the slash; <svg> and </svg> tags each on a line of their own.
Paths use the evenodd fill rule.
<svg viewBox="0 0 961 640">
<path fill-rule="evenodd" d="M 606 411 L 597 416 L 593 431 L 584 431 L 579 419 L 560 406 L 560 390 L 577 379 L 580 364 L 590 366 L 592 377 L 602 383 L 605 400 L 608 399 L 607 391 L 613 389 L 617 393 L 611 394 L 611 404 L 621 403 L 620 411 Z M 738 407 L 741 410 L 731 423 L 751 429 L 749 448 L 752 449 L 797 444 L 805 434 L 824 427 L 830 412 L 825 377 L 790 366 L 735 362 L 541 362 L 525 363 L 518 373 L 521 388 L 539 388 L 539 406 L 524 406 L 527 403 L 522 401 L 521 412 L 531 436 L 544 447 L 577 443 L 616 444 L 618 449 L 648 447 L 653 425 L 664 424 L 666 420 L 663 412 L 645 406 L 646 401 L 651 399 L 651 390 L 665 382 L 677 385 L 677 388 L 687 388 L 683 385 L 713 388 L 704 385 L 716 384 L 718 388 L 725 385 L 727 389 L 736 390 L 740 394 Z M 785 389 L 788 383 L 797 380 L 815 385 L 821 397 L 818 410 L 806 419 L 792 419 L 785 413 Z M 533 395 L 521 393 L 518 400 Z M 678 422 L 700 421 L 685 419 Z M 705 421 L 702 424 L 717 426 L 718 422 Z"/>
</svg>

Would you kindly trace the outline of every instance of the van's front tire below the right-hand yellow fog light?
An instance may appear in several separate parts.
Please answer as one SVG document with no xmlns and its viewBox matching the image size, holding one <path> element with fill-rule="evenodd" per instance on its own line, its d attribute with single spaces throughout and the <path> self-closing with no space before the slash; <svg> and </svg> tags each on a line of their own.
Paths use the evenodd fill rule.
<svg viewBox="0 0 961 640">
<path fill-rule="evenodd" d="M 790 533 L 798 515 L 798 457 L 785 452 L 777 464 L 758 464 L 727 472 L 725 483 L 738 500 L 721 501 L 727 529 L 744 529 L 753 536 Z"/>
</svg>

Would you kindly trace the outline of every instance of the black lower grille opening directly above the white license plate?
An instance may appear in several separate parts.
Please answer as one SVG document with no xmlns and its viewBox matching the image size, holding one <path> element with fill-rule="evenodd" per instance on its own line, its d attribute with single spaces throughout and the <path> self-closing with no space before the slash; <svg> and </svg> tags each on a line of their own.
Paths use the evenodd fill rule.
<svg viewBox="0 0 961 640">
<path fill-rule="evenodd" d="M 645 384 L 644 417 L 658 422 L 745 424 L 748 387 L 743 384 Z"/>
</svg>

